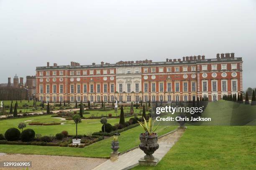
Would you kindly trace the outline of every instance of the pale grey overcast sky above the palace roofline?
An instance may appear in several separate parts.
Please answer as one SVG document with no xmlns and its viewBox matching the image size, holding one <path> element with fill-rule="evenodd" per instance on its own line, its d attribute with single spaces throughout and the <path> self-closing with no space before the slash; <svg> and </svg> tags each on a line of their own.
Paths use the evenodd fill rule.
<svg viewBox="0 0 256 170">
<path fill-rule="evenodd" d="M 0 0 L 0 83 L 70 61 L 235 52 L 256 87 L 256 0 Z M 12 80 L 13 81 L 13 80 Z"/>
</svg>

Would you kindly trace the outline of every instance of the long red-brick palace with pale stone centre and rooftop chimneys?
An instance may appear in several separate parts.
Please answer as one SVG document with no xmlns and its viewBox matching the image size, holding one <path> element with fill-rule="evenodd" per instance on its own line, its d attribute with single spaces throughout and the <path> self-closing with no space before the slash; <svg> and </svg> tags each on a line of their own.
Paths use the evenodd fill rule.
<svg viewBox="0 0 256 170">
<path fill-rule="evenodd" d="M 49 102 L 220 100 L 243 90 L 242 58 L 234 53 L 115 64 L 36 67 L 36 97 Z"/>
</svg>

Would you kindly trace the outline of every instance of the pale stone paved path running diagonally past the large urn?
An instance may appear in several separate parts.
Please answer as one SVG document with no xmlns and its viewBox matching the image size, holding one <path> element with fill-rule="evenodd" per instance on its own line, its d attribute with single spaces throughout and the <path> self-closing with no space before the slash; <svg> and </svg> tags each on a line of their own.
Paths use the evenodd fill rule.
<svg viewBox="0 0 256 170">
<path fill-rule="evenodd" d="M 153 154 L 159 161 L 164 155 L 172 148 L 182 136 L 184 131 L 175 131 L 159 138 L 159 149 Z M 124 153 L 118 157 L 117 160 L 107 160 L 104 163 L 98 165 L 93 170 L 128 170 L 138 165 L 138 160 L 144 157 L 144 153 L 139 148 Z"/>
</svg>

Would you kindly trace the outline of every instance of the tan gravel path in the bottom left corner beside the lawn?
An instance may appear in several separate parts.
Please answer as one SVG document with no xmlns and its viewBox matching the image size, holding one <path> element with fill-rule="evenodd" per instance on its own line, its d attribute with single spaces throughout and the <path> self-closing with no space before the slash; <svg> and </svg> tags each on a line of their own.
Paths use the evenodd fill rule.
<svg viewBox="0 0 256 170">
<path fill-rule="evenodd" d="M 106 159 L 0 153 L 0 161 L 31 161 L 32 167 L 29 168 L 29 170 L 91 170 L 105 162 Z M 21 169 L 22 168 L 0 168 L 0 170 Z"/>
</svg>

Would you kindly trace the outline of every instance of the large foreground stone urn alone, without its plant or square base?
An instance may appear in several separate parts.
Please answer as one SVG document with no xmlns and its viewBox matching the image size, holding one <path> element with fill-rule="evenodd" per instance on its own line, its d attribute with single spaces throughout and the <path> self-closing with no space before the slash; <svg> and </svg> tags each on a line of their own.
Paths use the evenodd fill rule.
<svg viewBox="0 0 256 170">
<path fill-rule="evenodd" d="M 139 148 L 143 150 L 143 152 L 146 154 L 144 156 L 144 160 L 145 161 L 155 160 L 152 154 L 159 148 L 159 144 L 157 143 L 158 135 L 156 133 L 153 133 L 152 135 L 141 133 L 140 140 L 141 140 L 141 144 L 139 145 Z"/>
</svg>

